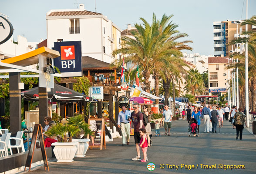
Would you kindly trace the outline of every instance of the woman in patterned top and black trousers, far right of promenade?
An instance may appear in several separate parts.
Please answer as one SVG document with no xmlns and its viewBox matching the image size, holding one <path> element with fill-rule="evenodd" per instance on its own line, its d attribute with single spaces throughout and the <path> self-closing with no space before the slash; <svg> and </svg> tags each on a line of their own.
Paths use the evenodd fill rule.
<svg viewBox="0 0 256 174">
<path fill-rule="evenodd" d="M 240 132 L 240 138 L 239 140 L 242 140 L 242 134 L 243 134 L 243 124 L 245 122 L 245 115 L 242 113 L 242 107 L 238 108 L 238 111 L 233 119 L 235 120 L 234 124 L 236 125 L 236 140 L 238 139 L 238 135 Z"/>
</svg>

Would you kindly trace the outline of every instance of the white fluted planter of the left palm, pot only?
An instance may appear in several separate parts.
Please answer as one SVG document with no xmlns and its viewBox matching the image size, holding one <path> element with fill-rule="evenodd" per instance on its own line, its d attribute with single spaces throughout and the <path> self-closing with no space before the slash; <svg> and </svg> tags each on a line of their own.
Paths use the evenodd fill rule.
<svg viewBox="0 0 256 174">
<path fill-rule="evenodd" d="M 72 162 L 77 152 L 76 143 L 53 143 L 54 155 L 57 162 Z"/>
</svg>

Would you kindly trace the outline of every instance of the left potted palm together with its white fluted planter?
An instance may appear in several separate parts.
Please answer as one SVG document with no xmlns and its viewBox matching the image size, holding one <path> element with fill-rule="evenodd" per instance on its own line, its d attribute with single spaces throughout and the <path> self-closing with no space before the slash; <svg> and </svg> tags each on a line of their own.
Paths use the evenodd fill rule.
<svg viewBox="0 0 256 174">
<path fill-rule="evenodd" d="M 57 158 L 57 162 L 72 162 L 74 161 L 74 155 L 76 154 L 77 147 L 75 143 L 72 143 L 72 136 L 77 134 L 80 131 L 73 125 L 63 125 L 62 123 L 58 123 L 51 127 L 48 131 L 45 132 L 48 136 L 56 136 L 57 141 L 53 143 L 54 147 L 54 155 Z M 67 137 L 67 134 L 70 137 Z"/>
</svg>

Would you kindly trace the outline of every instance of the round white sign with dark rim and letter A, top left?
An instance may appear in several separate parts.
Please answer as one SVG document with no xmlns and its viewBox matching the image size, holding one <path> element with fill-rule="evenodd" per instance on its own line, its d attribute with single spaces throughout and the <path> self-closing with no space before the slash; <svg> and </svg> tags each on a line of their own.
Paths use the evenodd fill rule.
<svg viewBox="0 0 256 174">
<path fill-rule="evenodd" d="M 12 35 L 12 24 L 6 18 L 0 16 L 0 44 L 5 43 Z"/>
</svg>

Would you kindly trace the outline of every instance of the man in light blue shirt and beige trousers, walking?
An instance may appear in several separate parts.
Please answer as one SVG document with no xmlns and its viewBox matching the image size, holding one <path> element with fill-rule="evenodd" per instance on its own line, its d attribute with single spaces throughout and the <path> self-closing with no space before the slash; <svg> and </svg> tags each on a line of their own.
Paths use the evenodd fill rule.
<svg viewBox="0 0 256 174">
<path fill-rule="evenodd" d="M 121 127 L 123 146 L 125 145 L 125 133 L 127 135 L 127 145 L 130 143 L 130 110 L 126 110 L 125 105 L 122 105 L 122 111 L 118 114 L 118 127 Z"/>
</svg>

